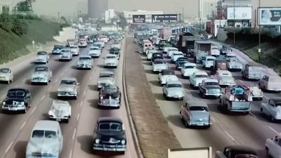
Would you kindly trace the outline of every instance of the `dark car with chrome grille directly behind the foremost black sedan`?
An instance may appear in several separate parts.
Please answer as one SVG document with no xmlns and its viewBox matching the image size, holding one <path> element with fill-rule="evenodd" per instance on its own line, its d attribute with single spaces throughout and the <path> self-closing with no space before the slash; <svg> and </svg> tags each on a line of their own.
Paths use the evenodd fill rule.
<svg viewBox="0 0 281 158">
<path fill-rule="evenodd" d="M 120 107 L 121 92 L 118 86 L 105 84 L 98 95 L 98 107 Z"/>
</svg>

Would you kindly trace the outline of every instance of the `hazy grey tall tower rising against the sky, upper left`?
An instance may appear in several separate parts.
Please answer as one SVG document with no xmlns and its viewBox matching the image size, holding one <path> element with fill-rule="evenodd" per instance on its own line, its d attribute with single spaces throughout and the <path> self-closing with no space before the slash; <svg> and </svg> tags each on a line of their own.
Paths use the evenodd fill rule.
<svg viewBox="0 0 281 158">
<path fill-rule="evenodd" d="M 89 18 L 103 18 L 108 8 L 108 0 L 88 0 Z"/>
</svg>

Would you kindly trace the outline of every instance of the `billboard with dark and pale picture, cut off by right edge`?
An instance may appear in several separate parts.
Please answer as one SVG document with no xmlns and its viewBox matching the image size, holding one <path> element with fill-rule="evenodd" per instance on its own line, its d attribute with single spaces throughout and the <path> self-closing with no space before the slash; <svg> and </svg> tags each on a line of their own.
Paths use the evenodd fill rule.
<svg viewBox="0 0 281 158">
<path fill-rule="evenodd" d="M 259 8 L 259 25 L 281 25 L 281 7 Z"/>
</svg>

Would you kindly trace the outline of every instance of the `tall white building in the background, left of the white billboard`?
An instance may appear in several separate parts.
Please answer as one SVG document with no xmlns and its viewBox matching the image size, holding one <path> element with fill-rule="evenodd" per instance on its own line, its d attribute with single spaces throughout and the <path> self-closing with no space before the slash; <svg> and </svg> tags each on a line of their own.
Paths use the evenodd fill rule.
<svg viewBox="0 0 281 158">
<path fill-rule="evenodd" d="M 199 16 L 202 22 L 215 18 L 216 5 L 219 0 L 199 0 Z"/>
</svg>

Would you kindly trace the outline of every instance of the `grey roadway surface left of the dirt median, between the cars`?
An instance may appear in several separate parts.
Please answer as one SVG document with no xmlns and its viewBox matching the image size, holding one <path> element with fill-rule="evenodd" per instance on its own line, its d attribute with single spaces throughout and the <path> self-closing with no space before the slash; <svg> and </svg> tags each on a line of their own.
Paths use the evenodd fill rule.
<svg viewBox="0 0 281 158">
<path fill-rule="evenodd" d="M 89 50 L 80 48 L 80 55 L 86 55 Z M 137 157 L 131 128 L 126 112 L 124 97 L 122 97 L 122 106 L 119 110 L 99 110 L 98 89 L 96 83 L 100 71 L 103 68 L 103 58 L 109 50 L 108 44 L 103 49 L 100 58 L 93 59 L 94 67 L 92 70 L 77 70 L 76 63 L 78 57 L 74 57 L 71 62 L 59 62 L 58 55 L 50 55 L 48 66 L 53 71 L 53 80 L 47 86 L 31 85 L 30 78 L 34 71 L 33 61 L 35 55 L 26 60 L 22 60 L 11 70 L 14 73 L 14 81 L 11 84 L 0 84 L 0 97 L 3 100 L 9 88 L 27 88 L 32 93 L 32 106 L 26 114 L 3 114 L 0 113 L 0 155 L 6 158 L 23 158 L 27 142 L 30 138 L 32 128 L 36 121 L 48 119 L 48 110 L 56 99 L 60 79 L 65 77 L 76 77 L 80 84 L 79 98 L 69 100 L 72 106 L 72 117 L 68 124 L 60 123 L 63 133 L 63 151 L 60 154 L 62 158 L 71 157 L 101 157 L 92 152 L 93 129 L 96 126 L 98 117 L 119 117 L 124 121 L 127 138 L 127 149 L 124 155 L 109 154 L 103 157 Z M 51 52 L 51 48 L 46 50 Z M 115 72 L 115 80 L 120 91 L 123 93 L 123 62 L 124 53 L 122 53 L 117 69 L 110 69 Z M 124 95 L 122 95 L 124 96 Z"/>
</svg>

